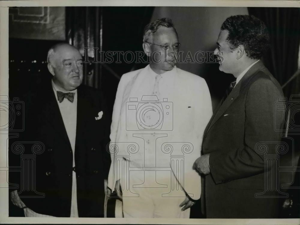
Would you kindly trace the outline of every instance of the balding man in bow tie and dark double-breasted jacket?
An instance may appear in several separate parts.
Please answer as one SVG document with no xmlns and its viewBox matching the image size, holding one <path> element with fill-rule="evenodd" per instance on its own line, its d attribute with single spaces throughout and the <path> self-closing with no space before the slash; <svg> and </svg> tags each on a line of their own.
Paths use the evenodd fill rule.
<svg viewBox="0 0 300 225">
<path fill-rule="evenodd" d="M 110 130 L 101 95 L 81 85 L 83 62 L 75 47 L 57 44 L 47 60 L 52 80 L 25 101 L 26 129 L 19 139 L 24 146 L 40 146 L 35 178 L 25 178 L 35 188 L 22 187 L 24 178 L 10 173 L 10 182 L 19 184 L 10 192 L 11 200 L 27 217 L 103 217 Z M 32 149 L 25 148 L 22 155 L 32 155 Z M 13 145 L 10 150 L 15 152 Z"/>
</svg>

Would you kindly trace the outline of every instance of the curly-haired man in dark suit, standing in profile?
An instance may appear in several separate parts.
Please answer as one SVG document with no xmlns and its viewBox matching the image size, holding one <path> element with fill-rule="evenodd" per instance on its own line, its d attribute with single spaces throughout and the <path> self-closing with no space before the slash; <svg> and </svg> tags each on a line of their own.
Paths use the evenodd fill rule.
<svg viewBox="0 0 300 225">
<path fill-rule="evenodd" d="M 230 16 L 221 27 L 219 69 L 236 79 L 208 123 L 203 155 L 194 163 L 205 176 L 201 199 L 207 218 L 278 216 L 278 198 L 255 196 L 265 189 L 265 154 L 276 155 L 273 144 L 281 139 L 276 130 L 284 121 L 284 110 L 274 113 L 282 89 L 259 60 L 268 41 L 264 23 L 254 16 Z M 267 153 L 257 149 L 261 143 Z"/>
</svg>

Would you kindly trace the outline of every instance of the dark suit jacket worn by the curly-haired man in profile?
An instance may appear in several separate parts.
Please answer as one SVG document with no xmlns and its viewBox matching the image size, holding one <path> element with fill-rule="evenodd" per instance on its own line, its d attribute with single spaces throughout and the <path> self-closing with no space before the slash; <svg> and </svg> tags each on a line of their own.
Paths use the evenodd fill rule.
<svg viewBox="0 0 300 225">
<path fill-rule="evenodd" d="M 211 173 L 202 182 L 207 218 L 277 217 L 277 198 L 255 197 L 264 191 L 265 175 L 265 154 L 255 146 L 281 139 L 275 131 L 284 120 L 284 110 L 274 113 L 278 97 L 279 83 L 259 61 L 215 110 L 202 143 L 203 154 L 210 154 Z M 276 155 L 274 144 L 266 145 L 267 154 Z"/>
</svg>

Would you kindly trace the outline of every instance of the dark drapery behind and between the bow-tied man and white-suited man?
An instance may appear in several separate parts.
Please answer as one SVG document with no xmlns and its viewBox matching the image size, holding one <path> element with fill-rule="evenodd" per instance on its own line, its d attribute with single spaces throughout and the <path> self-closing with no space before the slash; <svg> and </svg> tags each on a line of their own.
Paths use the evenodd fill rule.
<svg viewBox="0 0 300 225">
<path fill-rule="evenodd" d="M 143 30 L 153 10 L 154 7 L 66 7 L 66 40 L 82 53 L 88 47 L 89 55 L 94 54 L 92 48 L 104 52 L 143 51 Z M 122 74 L 145 67 L 122 57 L 118 63 L 118 54 L 113 58 L 110 63 L 84 63 L 83 78 L 84 84 L 101 89 L 110 113 Z M 105 59 L 104 56 L 101 61 Z M 94 61 L 94 57 L 89 60 Z"/>
</svg>

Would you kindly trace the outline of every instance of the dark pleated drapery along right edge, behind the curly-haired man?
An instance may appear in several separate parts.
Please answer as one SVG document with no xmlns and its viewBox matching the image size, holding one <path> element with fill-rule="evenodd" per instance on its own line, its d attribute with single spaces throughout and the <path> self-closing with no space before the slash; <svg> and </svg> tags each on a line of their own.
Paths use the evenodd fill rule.
<svg viewBox="0 0 300 225">
<path fill-rule="evenodd" d="M 269 51 L 264 55 L 263 60 L 281 85 L 286 82 L 295 73 L 299 73 L 298 54 L 300 43 L 300 9 L 299 8 L 248 8 L 249 14 L 252 14 L 265 22 L 270 32 Z M 300 76 L 295 76 L 283 88 L 284 95 L 290 99 L 291 95 L 300 94 Z M 294 96 L 295 97 L 295 96 Z M 298 100 L 299 101 L 299 100 Z M 295 167 L 299 166 L 299 107 L 297 100 L 286 105 L 286 115 L 290 117 L 288 129 L 288 138 L 293 142 L 288 142 L 289 151 L 281 155 L 280 166 Z M 296 131 L 296 132 L 295 132 Z M 283 138 L 282 141 L 286 142 Z M 297 162 L 298 161 L 298 162 Z M 294 177 L 294 179 L 291 179 Z M 290 183 L 289 183 L 290 182 Z M 285 184 L 289 188 L 281 187 L 282 191 L 289 193 L 289 199 L 292 199 L 292 207 L 282 207 L 280 217 L 299 218 L 299 172 L 286 172 L 280 174 L 280 184 Z M 283 205 L 282 199 L 281 205 Z"/>
</svg>

